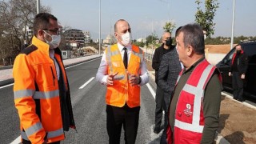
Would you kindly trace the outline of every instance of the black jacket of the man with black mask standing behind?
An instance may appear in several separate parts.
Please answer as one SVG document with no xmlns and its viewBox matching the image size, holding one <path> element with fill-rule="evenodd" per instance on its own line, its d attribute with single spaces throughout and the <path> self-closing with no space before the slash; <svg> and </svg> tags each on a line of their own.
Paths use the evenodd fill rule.
<svg viewBox="0 0 256 144">
<path fill-rule="evenodd" d="M 163 48 L 162 46 L 159 46 L 156 50 L 154 50 L 154 56 L 153 56 L 153 61 L 152 61 L 152 67 L 155 70 L 155 82 L 158 84 L 158 70 L 159 70 L 159 66 L 160 66 L 160 62 L 162 60 L 162 55 L 168 53 L 170 49 L 166 50 L 165 48 Z"/>
</svg>

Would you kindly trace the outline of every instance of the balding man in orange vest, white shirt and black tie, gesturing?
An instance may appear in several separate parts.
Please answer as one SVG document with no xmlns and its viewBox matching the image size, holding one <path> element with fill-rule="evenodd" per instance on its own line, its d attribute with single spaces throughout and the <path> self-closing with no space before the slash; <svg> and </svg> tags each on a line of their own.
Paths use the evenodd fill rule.
<svg viewBox="0 0 256 144">
<path fill-rule="evenodd" d="M 143 51 L 131 45 L 130 25 L 120 19 L 114 24 L 118 43 L 106 48 L 96 78 L 106 85 L 106 126 L 109 143 L 120 143 L 122 125 L 125 141 L 133 144 L 138 131 L 140 86 L 148 82 Z"/>
</svg>

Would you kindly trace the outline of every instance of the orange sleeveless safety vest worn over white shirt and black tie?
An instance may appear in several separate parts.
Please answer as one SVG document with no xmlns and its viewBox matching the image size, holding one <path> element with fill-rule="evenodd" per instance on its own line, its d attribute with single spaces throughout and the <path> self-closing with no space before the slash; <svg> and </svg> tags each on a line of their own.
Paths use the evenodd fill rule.
<svg viewBox="0 0 256 144">
<path fill-rule="evenodd" d="M 139 76 L 142 59 L 143 51 L 138 46 L 132 46 L 132 53 L 126 70 L 118 45 L 115 44 L 106 48 L 107 74 L 118 72 L 118 75 L 114 77 L 113 85 L 107 85 L 107 105 L 122 107 L 127 103 L 130 108 L 140 106 L 140 86 L 130 85 L 128 73 Z"/>
</svg>

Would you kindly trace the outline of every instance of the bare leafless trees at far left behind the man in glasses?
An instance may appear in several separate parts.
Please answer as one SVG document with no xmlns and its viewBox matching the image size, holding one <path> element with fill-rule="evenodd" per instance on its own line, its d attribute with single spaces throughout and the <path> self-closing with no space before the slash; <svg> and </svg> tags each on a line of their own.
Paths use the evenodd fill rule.
<svg viewBox="0 0 256 144">
<path fill-rule="evenodd" d="M 41 11 L 49 12 L 50 8 L 42 6 Z M 36 1 L 34 0 L 0 2 L 0 58 L 4 65 L 7 60 L 14 62 L 24 42 L 28 42 L 26 28 L 32 27 L 35 14 Z"/>
</svg>

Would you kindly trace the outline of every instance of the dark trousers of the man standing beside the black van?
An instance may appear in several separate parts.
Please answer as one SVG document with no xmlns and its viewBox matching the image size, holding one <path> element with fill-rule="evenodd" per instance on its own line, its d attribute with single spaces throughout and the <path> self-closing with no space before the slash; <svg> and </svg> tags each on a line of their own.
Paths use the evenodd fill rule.
<svg viewBox="0 0 256 144">
<path fill-rule="evenodd" d="M 241 74 L 235 71 L 232 72 L 232 87 L 234 99 L 242 100 L 243 79 L 241 79 Z"/>
</svg>

